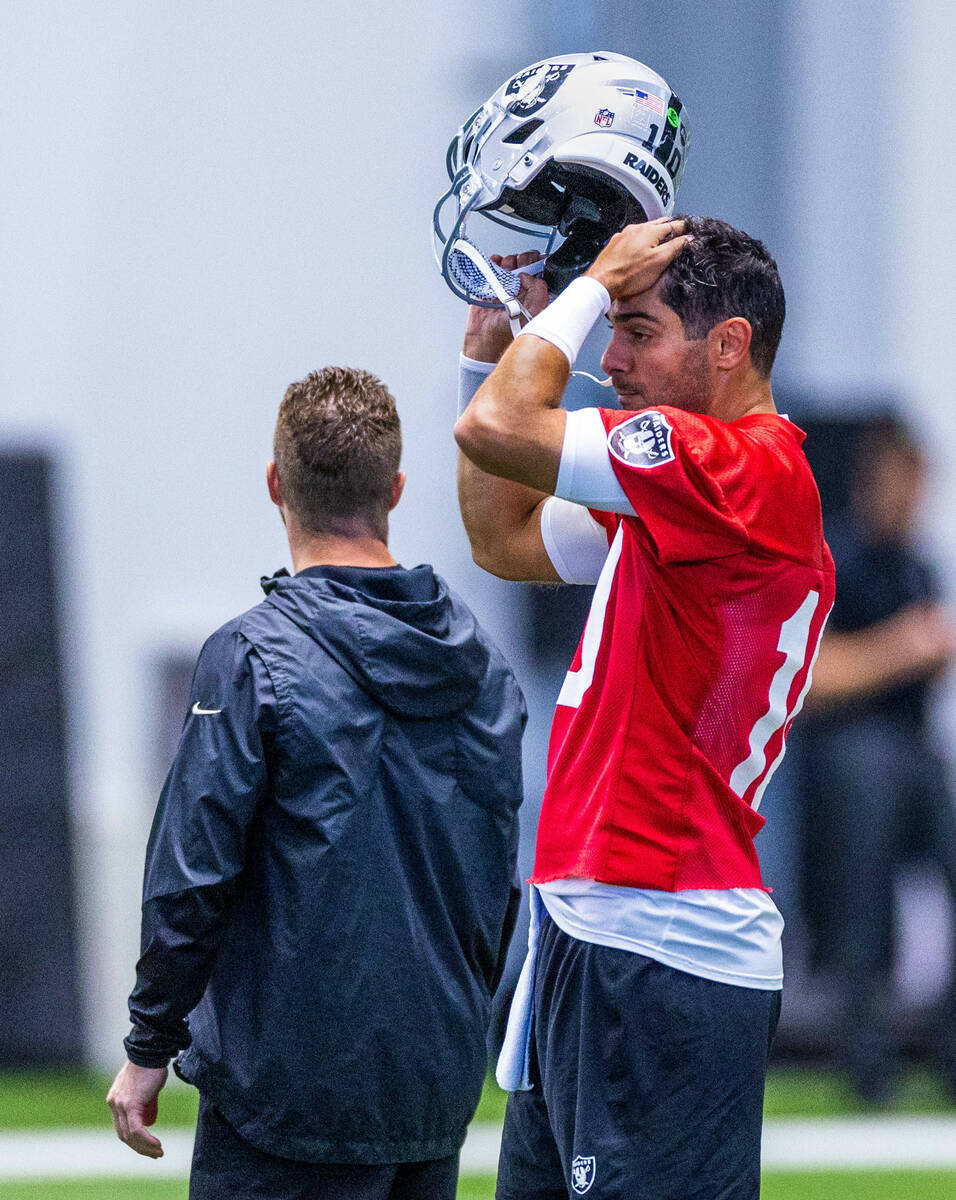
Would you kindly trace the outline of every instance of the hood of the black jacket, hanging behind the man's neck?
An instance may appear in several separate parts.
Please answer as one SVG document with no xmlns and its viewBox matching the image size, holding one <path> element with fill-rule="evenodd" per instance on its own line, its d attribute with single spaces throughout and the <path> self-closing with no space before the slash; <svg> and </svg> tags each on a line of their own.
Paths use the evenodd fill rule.
<svg viewBox="0 0 956 1200">
<path fill-rule="evenodd" d="M 450 716 L 488 666 L 477 622 L 431 566 L 308 568 L 263 580 L 284 613 L 387 712 Z"/>
</svg>

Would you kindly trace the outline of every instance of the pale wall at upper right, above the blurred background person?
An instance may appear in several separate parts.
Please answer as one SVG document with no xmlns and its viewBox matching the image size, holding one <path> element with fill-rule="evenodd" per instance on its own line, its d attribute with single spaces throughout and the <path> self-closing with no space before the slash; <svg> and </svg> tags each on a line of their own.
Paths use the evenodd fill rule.
<svg viewBox="0 0 956 1200">
<path fill-rule="evenodd" d="M 956 72 L 940 0 L 794 0 L 783 371 L 832 410 L 896 400 L 930 456 L 925 541 L 956 613 Z M 939 692 L 956 758 L 956 679 Z"/>
</svg>

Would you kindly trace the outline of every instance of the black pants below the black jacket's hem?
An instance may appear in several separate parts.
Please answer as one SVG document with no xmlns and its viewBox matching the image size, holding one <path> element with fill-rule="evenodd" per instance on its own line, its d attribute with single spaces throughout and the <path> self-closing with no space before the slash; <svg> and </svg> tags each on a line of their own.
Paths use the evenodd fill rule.
<svg viewBox="0 0 956 1200">
<path fill-rule="evenodd" d="M 457 1186 L 457 1154 L 372 1166 L 276 1158 L 199 1098 L 190 1200 L 455 1200 Z"/>
</svg>

